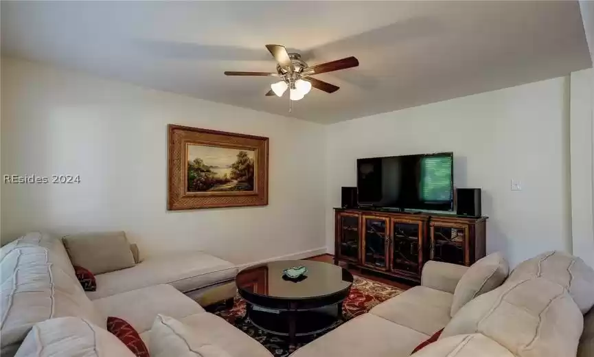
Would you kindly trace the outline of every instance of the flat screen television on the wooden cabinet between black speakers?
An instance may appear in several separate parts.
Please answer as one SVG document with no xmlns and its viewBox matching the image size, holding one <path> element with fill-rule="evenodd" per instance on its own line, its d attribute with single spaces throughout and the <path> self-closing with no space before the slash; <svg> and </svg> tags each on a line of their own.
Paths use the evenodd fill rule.
<svg viewBox="0 0 594 357">
<path fill-rule="evenodd" d="M 359 205 L 453 210 L 453 153 L 357 160 Z"/>
</svg>

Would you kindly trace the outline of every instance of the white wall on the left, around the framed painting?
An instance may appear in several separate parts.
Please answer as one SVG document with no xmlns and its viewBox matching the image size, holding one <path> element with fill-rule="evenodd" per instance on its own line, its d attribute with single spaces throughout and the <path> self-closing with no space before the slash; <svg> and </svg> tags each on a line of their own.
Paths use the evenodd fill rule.
<svg viewBox="0 0 594 357">
<path fill-rule="evenodd" d="M 121 229 L 143 253 L 203 249 L 236 263 L 324 249 L 319 124 L 2 59 L 1 237 Z M 270 138 L 269 205 L 166 211 L 167 124 Z M 319 249 L 322 249 L 321 251 Z"/>
</svg>

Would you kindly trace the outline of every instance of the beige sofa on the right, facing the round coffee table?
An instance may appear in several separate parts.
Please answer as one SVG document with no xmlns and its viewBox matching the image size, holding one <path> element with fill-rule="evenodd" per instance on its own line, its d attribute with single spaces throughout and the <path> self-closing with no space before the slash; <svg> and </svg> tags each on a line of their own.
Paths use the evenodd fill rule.
<svg viewBox="0 0 594 357">
<path fill-rule="evenodd" d="M 452 314 L 468 268 L 424 266 L 411 288 L 298 349 L 291 357 L 594 357 L 594 270 L 577 257 L 543 253 Z M 594 310 L 594 309 L 592 309 Z M 585 318 L 584 315 L 586 314 Z"/>
</svg>

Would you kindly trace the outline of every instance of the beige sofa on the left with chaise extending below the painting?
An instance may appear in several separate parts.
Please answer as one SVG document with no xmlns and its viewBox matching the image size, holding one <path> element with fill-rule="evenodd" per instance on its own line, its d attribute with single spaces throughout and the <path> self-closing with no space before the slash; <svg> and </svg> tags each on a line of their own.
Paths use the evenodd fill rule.
<svg viewBox="0 0 594 357">
<path fill-rule="evenodd" d="M 98 275 L 98 290 L 101 284 L 110 284 L 111 288 L 92 295 L 104 297 L 91 300 L 89 293 L 82 290 L 60 239 L 29 233 L 3 246 L 0 249 L 1 356 L 14 356 L 32 326 L 47 319 L 76 316 L 105 328 L 107 316 L 118 316 L 148 341 L 155 317 L 163 314 L 195 327 L 212 344 L 225 345 L 231 356 L 271 357 L 260 343 L 205 312 L 179 291 L 195 291 L 212 286 L 218 279 L 234 276 L 236 268 L 231 268 L 231 263 L 205 253 L 188 253 L 179 260 L 171 260 L 172 264 L 167 265 L 163 260 L 147 258 L 133 268 Z M 166 268 L 168 272 L 150 268 Z"/>
</svg>

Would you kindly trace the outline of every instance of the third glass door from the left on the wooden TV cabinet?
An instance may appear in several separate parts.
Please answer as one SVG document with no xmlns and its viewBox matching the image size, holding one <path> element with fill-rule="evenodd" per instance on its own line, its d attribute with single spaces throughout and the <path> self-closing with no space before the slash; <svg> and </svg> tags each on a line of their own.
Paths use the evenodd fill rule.
<svg viewBox="0 0 594 357">
<path fill-rule="evenodd" d="M 422 233 L 418 222 L 393 222 L 391 245 L 391 270 L 406 270 L 419 274 L 419 235 Z"/>
</svg>

